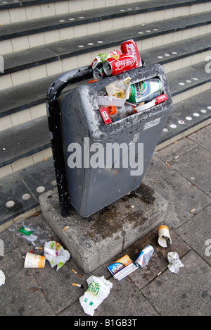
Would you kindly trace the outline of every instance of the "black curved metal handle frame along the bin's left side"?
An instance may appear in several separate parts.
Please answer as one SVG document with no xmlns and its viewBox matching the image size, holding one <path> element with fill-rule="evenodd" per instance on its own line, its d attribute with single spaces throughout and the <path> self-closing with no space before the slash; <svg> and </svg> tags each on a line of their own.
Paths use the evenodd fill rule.
<svg viewBox="0 0 211 330">
<path fill-rule="evenodd" d="M 93 78 L 91 66 L 68 71 L 52 82 L 46 97 L 46 110 L 49 121 L 51 148 L 54 170 L 60 201 L 60 210 L 63 217 L 70 215 L 70 195 L 65 171 L 65 157 L 63 152 L 63 138 L 60 126 L 60 109 L 58 99 L 60 93 L 70 84 Z"/>
</svg>

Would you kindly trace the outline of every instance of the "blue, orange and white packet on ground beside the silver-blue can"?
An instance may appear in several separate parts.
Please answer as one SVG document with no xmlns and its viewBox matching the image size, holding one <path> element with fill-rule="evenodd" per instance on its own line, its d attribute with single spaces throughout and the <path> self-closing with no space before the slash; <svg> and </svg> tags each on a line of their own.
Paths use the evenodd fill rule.
<svg viewBox="0 0 211 330">
<path fill-rule="evenodd" d="M 124 255 L 124 257 L 118 259 L 114 264 L 108 266 L 108 270 L 113 275 L 114 279 L 118 281 L 121 281 L 138 268 L 139 267 L 132 262 L 132 259 L 130 259 L 128 255 Z"/>
</svg>

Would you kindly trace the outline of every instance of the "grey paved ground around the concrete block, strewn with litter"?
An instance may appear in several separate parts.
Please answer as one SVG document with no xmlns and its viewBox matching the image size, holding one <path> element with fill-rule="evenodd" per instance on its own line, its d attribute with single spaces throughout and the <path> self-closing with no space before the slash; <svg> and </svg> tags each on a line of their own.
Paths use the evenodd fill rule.
<svg viewBox="0 0 211 330">
<path fill-rule="evenodd" d="M 44 246 L 45 240 L 58 239 L 42 214 L 0 233 L 1 246 L 4 242 L 0 269 L 6 276 L 6 283 L 0 286 L 0 315 L 72 316 L 73 320 L 88 317 L 79 298 L 87 290 L 89 276 L 95 275 L 105 276 L 113 288 L 89 320 L 123 317 L 141 322 L 141 316 L 210 316 L 210 140 L 211 125 L 155 152 L 143 178 L 144 183 L 168 202 L 164 222 L 172 237 L 168 248 L 158 245 L 155 229 L 93 273 L 81 274 L 71 257 L 58 271 L 56 267 L 51 268 L 48 261 L 44 269 L 24 268 L 24 257 L 34 246 L 18 236 L 23 224 L 35 229 L 36 245 Z M 108 265 L 124 254 L 136 259 L 147 244 L 155 249 L 148 266 L 137 269 L 122 281 L 114 279 Z M 177 274 L 167 268 L 170 251 L 178 252 L 184 264 Z M 43 251 L 34 250 L 34 253 L 42 255 Z M 77 276 L 72 269 L 82 276 Z M 83 284 L 84 288 L 72 283 Z M 103 321 L 98 322 L 98 326 L 103 325 Z"/>
</svg>

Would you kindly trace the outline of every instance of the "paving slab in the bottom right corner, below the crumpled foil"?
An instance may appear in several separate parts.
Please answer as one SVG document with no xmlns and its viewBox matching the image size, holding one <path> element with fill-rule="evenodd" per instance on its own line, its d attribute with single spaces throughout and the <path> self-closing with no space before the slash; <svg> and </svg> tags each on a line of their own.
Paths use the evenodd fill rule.
<svg viewBox="0 0 211 330">
<path fill-rule="evenodd" d="M 210 316 L 210 267 L 193 251 L 181 262 L 179 273 L 167 269 L 143 295 L 163 316 Z"/>
</svg>

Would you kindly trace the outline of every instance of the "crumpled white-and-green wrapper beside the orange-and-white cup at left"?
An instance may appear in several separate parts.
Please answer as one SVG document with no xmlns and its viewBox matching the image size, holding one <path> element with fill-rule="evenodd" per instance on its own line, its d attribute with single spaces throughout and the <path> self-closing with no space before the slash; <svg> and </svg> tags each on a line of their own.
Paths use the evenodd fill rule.
<svg viewBox="0 0 211 330">
<path fill-rule="evenodd" d="M 44 256 L 49 260 L 51 268 L 57 265 L 56 271 L 63 267 L 65 262 L 70 259 L 70 253 L 65 250 L 56 240 L 46 242 L 44 245 Z"/>
</svg>

